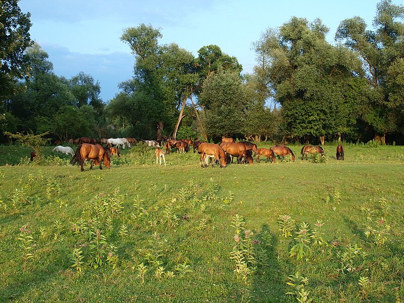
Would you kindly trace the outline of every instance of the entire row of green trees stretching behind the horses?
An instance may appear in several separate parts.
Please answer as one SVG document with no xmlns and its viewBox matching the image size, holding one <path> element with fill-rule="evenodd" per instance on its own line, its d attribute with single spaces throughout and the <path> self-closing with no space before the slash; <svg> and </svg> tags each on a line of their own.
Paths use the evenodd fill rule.
<svg viewBox="0 0 404 303">
<path fill-rule="evenodd" d="M 250 74 L 218 45 L 194 57 L 160 44 L 151 25 L 127 28 L 121 40 L 134 56 L 133 77 L 108 104 L 90 75 L 54 74 L 17 3 L 0 3 L 2 134 L 404 143 L 404 7 L 391 0 L 377 5 L 373 30 L 361 17 L 341 21 L 335 44 L 320 19 L 266 29 L 252 43 Z"/>
</svg>

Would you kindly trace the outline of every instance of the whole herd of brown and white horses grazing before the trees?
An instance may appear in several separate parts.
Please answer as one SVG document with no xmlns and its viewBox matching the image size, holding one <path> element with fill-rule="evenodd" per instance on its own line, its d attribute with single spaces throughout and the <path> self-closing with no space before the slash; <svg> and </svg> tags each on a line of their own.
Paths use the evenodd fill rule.
<svg viewBox="0 0 404 303">
<path fill-rule="evenodd" d="M 164 142 L 165 151 L 160 149 L 159 142 L 155 140 L 142 140 L 143 143 L 147 144 L 149 147 L 155 147 L 156 151 L 156 164 L 160 160 L 160 165 L 162 159 L 164 160 L 164 165 L 166 165 L 165 155 L 170 154 L 172 148 L 178 150 L 179 153 L 186 153 L 189 150 L 189 146 L 192 145 L 193 152 L 197 151 L 200 155 L 200 165 L 202 168 L 208 167 L 209 161 L 214 167 L 214 163 L 217 161 L 222 168 L 226 167 L 228 164 L 233 163 L 233 159 L 237 159 L 237 163 L 248 163 L 252 164 L 254 162 L 254 157 L 258 155 L 257 162 L 260 163 L 260 157 L 266 157 L 266 163 L 270 160 L 275 163 L 276 157 L 283 161 L 284 157 L 291 155 L 291 159 L 294 162 L 293 151 L 285 145 L 275 145 L 270 148 L 258 148 L 257 144 L 248 141 L 234 142 L 232 138 L 222 137 L 222 142 L 220 144 L 214 144 L 204 141 L 190 139 L 175 140 L 169 138 Z M 70 141 L 70 140 L 69 140 Z M 72 143 L 76 143 L 73 140 Z M 64 153 L 66 155 L 71 154 L 72 160 L 71 164 L 77 163 L 81 167 L 81 171 L 84 171 L 83 164 L 85 160 L 91 160 L 90 169 L 93 165 L 98 165 L 99 169 L 102 169 L 102 161 L 104 165 L 109 169 L 110 158 L 112 155 L 116 154 L 120 157 L 119 147 L 125 148 L 125 146 L 130 147 L 132 144 L 137 144 L 134 138 L 110 138 L 110 139 L 100 139 L 99 141 L 94 138 L 81 137 L 77 139 L 76 152 L 73 154 L 73 149 L 70 146 L 56 146 L 53 151 Z M 106 144 L 106 147 L 103 147 Z M 254 155 L 252 155 L 254 152 Z M 303 160 L 307 154 L 319 153 L 324 155 L 324 149 L 321 146 L 305 145 L 301 148 L 300 154 Z M 344 146 L 338 145 L 336 152 L 337 160 L 344 160 Z M 32 159 L 32 155 L 31 155 Z"/>
</svg>

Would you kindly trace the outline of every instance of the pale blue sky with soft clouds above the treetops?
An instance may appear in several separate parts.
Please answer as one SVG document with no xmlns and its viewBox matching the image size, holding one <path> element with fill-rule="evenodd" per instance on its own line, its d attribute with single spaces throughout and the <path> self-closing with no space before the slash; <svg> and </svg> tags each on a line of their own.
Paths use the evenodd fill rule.
<svg viewBox="0 0 404 303">
<path fill-rule="evenodd" d="M 31 39 L 49 55 L 58 76 L 79 72 L 99 81 L 104 102 L 119 92 L 118 84 L 133 76 L 135 59 L 120 40 L 128 27 L 144 23 L 159 28 L 160 44 L 177 43 L 197 57 L 200 47 L 216 44 L 251 73 L 255 53 L 251 43 L 267 28 L 278 28 L 291 17 L 313 22 L 320 18 L 335 44 L 339 23 L 362 17 L 372 29 L 379 0 L 20 0 L 31 14 Z M 393 0 L 404 5 L 404 0 Z"/>
</svg>

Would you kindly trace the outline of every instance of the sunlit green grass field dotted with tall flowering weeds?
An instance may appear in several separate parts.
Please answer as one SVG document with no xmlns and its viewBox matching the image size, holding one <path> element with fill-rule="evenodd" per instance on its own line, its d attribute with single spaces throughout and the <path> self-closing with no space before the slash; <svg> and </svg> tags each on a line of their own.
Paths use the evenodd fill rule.
<svg viewBox="0 0 404 303">
<path fill-rule="evenodd" d="M 201 169 L 136 146 L 80 172 L 0 146 L 0 300 L 403 302 L 404 147 L 290 147 Z"/>
</svg>

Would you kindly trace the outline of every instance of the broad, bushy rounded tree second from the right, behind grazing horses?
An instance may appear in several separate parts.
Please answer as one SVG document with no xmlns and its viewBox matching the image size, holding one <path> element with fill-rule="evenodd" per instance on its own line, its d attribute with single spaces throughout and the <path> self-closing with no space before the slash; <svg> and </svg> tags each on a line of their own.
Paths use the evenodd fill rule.
<svg viewBox="0 0 404 303">
<path fill-rule="evenodd" d="M 260 78 L 268 79 L 269 90 L 282 105 L 285 135 L 319 137 L 324 144 L 326 135 L 352 127 L 351 86 L 361 70 L 355 54 L 330 45 L 325 40 L 328 28 L 319 19 L 309 24 L 293 17 L 278 35 L 268 31 L 263 35 L 268 41 L 260 42 L 266 45 L 265 69 L 260 63 L 256 70 L 263 74 Z"/>
</svg>

